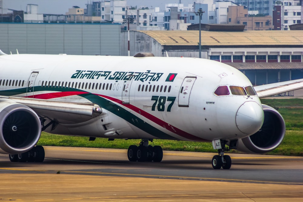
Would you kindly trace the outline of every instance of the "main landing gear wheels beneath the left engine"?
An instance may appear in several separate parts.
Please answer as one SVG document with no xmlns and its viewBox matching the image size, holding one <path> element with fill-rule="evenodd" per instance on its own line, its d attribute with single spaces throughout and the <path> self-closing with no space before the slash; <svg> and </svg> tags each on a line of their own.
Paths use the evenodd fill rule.
<svg viewBox="0 0 303 202">
<path fill-rule="evenodd" d="M 37 145 L 27 152 L 21 154 L 10 154 L 9 160 L 12 162 L 43 162 L 44 157 L 44 148 Z"/>
</svg>

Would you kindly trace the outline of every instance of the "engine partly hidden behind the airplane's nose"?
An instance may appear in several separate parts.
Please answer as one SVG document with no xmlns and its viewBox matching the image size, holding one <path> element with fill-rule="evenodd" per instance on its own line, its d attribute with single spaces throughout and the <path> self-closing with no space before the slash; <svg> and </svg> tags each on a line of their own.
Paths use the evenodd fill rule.
<svg viewBox="0 0 303 202">
<path fill-rule="evenodd" d="M 285 136 L 285 121 L 274 108 L 262 104 L 264 123 L 255 134 L 238 142 L 238 151 L 246 153 L 266 153 L 277 148 Z"/>
</svg>

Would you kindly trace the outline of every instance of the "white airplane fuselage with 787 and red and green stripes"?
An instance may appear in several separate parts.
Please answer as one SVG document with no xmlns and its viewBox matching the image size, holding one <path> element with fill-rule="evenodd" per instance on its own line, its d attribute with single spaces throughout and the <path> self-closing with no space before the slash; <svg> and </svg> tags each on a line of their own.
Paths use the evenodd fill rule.
<svg viewBox="0 0 303 202">
<path fill-rule="evenodd" d="M 54 134 L 232 140 L 254 134 L 264 118 L 258 96 L 231 93 L 230 86 L 251 86 L 248 78 L 206 59 L 2 55 L 0 70 L 0 95 L 102 108 L 84 123 L 62 121 L 55 130 L 48 128 Z M 219 86 L 227 86 L 229 94 L 216 95 Z"/>
</svg>

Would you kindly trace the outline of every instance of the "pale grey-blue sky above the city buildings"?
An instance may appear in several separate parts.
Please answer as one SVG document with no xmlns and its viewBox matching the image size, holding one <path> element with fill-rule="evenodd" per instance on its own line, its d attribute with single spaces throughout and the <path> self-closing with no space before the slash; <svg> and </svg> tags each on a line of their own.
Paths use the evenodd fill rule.
<svg viewBox="0 0 303 202">
<path fill-rule="evenodd" d="M 68 12 L 68 8 L 72 8 L 72 6 L 86 8 L 85 4 L 93 1 L 102 0 L 3 0 L 3 8 L 24 10 L 26 12 L 27 4 L 36 4 L 39 5 L 39 14 L 65 14 L 65 12 Z M 181 3 L 188 6 L 194 1 L 203 3 L 203 0 L 181 0 Z M 165 4 L 168 3 L 179 3 L 179 0 L 127 0 L 128 6 L 160 7 L 160 11 L 164 11 Z"/>
</svg>

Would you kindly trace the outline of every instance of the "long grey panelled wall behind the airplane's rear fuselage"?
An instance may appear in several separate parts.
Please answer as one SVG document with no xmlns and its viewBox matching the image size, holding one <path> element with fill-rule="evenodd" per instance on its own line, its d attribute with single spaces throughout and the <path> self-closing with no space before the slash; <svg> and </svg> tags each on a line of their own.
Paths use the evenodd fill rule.
<svg viewBox="0 0 303 202">
<path fill-rule="evenodd" d="M 5 53 L 120 55 L 120 25 L 0 23 Z"/>
</svg>

